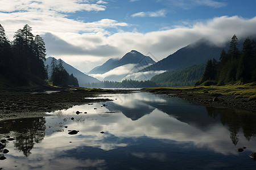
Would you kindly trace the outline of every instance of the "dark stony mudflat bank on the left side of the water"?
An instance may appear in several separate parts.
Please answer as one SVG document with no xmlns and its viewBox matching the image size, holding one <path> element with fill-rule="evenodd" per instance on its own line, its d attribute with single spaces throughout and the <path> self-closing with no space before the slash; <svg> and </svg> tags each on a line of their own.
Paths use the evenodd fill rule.
<svg viewBox="0 0 256 170">
<path fill-rule="evenodd" d="M 0 90 L 0 121 L 43 117 L 47 116 L 46 112 L 68 109 L 73 105 L 109 101 L 109 99 L 85 99 L 85 97 L 128 92 L 130 91 L 98 88 L 54 88 L 44 92 L 24 89 Z"/>
</svg>

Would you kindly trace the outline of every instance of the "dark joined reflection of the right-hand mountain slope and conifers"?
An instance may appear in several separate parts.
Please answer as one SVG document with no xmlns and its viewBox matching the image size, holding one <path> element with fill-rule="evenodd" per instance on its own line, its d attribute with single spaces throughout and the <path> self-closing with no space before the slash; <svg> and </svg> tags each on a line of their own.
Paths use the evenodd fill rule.
<svg viewBox="0 0 256 170">
<path fill-rule="evenodd" d="M 254 114 L 245 111 L 195 105 L 170 105 L 152 102 L 147 102 L 147 104 L 170 116 L 175 116 L 181 122 L 196 126 L 201 131 L 210 129 L 214 124 L 221 122 L 222 125 L 229 127 L 230 139 L 234 145 L 238 143 L 237 133 L 240 129 L 243 130 L 243 135 L 248 141 L 256 135 L 256 117 Z"/>
</svg>

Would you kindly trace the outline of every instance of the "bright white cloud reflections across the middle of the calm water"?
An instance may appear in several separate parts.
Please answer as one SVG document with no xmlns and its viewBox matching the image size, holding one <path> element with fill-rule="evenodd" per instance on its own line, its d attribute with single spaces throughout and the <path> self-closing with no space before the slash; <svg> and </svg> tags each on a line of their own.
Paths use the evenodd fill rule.
<svg viewBox="0 0 256 170">
<path fill-rule="evenodd" d="M 142 106 L 152 107 L 151 105 L 147 105 L 147 103 L 164 104 L 168 101 L 159 95 L 155 96 L 146 93 L 117 94 L 110 96 L 117 98 L 118 100 L 109 101 L 109 105 L 113 102 L 115 105 L 131 109 L 131 112 L 133 112 L 133 108 L 136 109 Z M 175 103 L 175 105 L 178 107 L 179 104 Z M 148 138 L 168 139 L 184 143 L 193 142 L 196 147 L 207 147 L 210 150 L 224 155 L 237 154 L 236 146 L 232 144 L 232 141 L 229 138 L 230 131 L 222 124 L 212 124 L 212 126 L 207 129 L 201 130 L 193 124 L 181 122 L 175 117 L 167 116 L 166 113 L 158 109 L 154 109 L 150 114 L 147 114 L 136 121 L 132 121 L 118 111 L 111 114 L 109 117 L 104 118 L 100 117 L 96 111 L 89 109 L 88 105 L 84 105 L 84 107 L 84 109 L 76 107 L 73 110 L 74 112 L 76 110 L 87 110 L 89 112 L 86 116 L 90 116 L 90 118 L 94 118 L 94 120 L 97 119 L 97 121 L 85 122 L 86 126 L 79 126 L 79 134 L 82 135 L 82 137 L 86 137 L 79 138 L 79 143 L 85 143 L 88 146 L 98 147 L 103 150 L 112 150 L 116 147 L 127 146 L 128 143 L 123 141 L 124 138 L 146 136 Z M 93 107 L 95 106 L 93 105 L 92 108 Z M 172 110 L 171 104 L 169 107 L 170 110 Z M 185 108 L 186 106 L 180 103 L 180 107 Z M 204 111 L 205 114 L 207 114 L 204 108 L 201 109 L 202 112 Z M 68 112 L 70 113 L 73 111 L 72 109 L 67 110 L 66 114 L 68 114 Z M 76 124 L 71 125 L 71 129 L 72 128 L 77 128 Z M 102 135 L 98 133 L 101 130 L 107 132 L 106 138 L 102 138 Z M 111 135 L 113 135 L 111 137 L 112 139 L 109 138 Z M 239 143 L 241 146 L 244 145 L 247 146 L 247 148 L 250 148 L 250 150 L 256 150 L 253 140 L 247 141 L 247 139 L 243 137 L 242 132 L 238 133 L 238 135 L 240 136 Z M 58 138 L 61 138 L 61 134 Z M 96 142 L 95 145 L 92 144 L 94 142 Z M 64 143 L 64 145 L 66 144 Z"/>
</svg>

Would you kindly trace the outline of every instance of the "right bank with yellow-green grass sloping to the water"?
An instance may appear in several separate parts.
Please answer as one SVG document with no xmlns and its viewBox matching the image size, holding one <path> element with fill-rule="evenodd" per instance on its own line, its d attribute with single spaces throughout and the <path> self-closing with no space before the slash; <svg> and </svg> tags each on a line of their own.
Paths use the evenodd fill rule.
<svg viewBox="0 0 256 170">
<path fill-rule="evenodd" d="M 143 88 L 154 94 L 167 94 L 196 101 L 199 105 L 233 108 L 256 113 L 256 84 L 228 86 Z"/>
</svg>

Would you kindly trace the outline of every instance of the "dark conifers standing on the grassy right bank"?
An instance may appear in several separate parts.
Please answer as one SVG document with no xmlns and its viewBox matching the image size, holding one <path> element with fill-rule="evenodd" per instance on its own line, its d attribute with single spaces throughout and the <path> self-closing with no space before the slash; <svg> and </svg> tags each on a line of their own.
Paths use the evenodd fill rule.
<svg viewBox="0 0 256 170">
<path fill-rule="evenodd" d="M 256 81 L 256 42 L 249 37 L 237 48 L 238 38 L 234 35 L 228 52 L 222 50 L 220 61 L 209 59 L 201 79 L 195 85 L 250 83 Z"/>
</svg>

